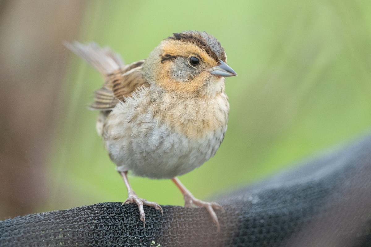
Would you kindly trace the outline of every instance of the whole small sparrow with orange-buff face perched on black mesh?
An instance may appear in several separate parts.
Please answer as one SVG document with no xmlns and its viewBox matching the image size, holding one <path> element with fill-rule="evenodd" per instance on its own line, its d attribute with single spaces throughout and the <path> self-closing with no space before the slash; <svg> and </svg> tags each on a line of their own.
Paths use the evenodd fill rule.
<svg viewBox="0 0 371 247">
<path fill-rule="evenodd" d="M 158 203 L 135 194 L 127 173 L 171 178 L 185 207 L 205 207 L 218 227 L 216 203 L 195 198 L 176 176 L 214 156 L 227 130 L 228 97 L 224 77 L 237 76 L 219 41 L 206 32 L 184 31 L 162 40 L 145 60 L 124 64 L 109 48 L 95 43 L 66 44 L 104 76 L 90 109 L 99 110 L 96 130 L 128 190 L 122 203 L 161 211 Z"/>
</svg>

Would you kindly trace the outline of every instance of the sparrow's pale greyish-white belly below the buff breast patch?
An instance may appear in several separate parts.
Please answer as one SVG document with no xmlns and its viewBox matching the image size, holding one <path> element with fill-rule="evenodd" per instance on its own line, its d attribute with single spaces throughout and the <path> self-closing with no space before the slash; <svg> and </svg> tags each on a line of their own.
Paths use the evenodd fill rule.
<svg viewBox="0 0 371 247">
<path fill-rule="evenodd" d="M 104 142 L 118 171 L 131 170 L 149 178 L 172 178 L 192 171 L 214 156 L 227 126 L 203 138 L 188 138 L 149 116 L 128 121 L 123 114 L 109 116 Z"/>
</svg>

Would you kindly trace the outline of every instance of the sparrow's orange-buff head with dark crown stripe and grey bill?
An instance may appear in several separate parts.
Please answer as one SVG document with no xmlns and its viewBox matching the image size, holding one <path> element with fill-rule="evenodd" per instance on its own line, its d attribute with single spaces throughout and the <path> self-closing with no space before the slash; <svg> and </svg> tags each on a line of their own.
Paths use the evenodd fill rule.
<svg viewBox="0 0 371 247">
<path fill-rule="evenodd" d="M 166 91 L 213 96 L 224 91 L 224 77 L 237 76 L 226 62 L 226 53 L 213 36 L 184 31 L 161 41 L 143 64 L 143 73 Z"/>
</svg>

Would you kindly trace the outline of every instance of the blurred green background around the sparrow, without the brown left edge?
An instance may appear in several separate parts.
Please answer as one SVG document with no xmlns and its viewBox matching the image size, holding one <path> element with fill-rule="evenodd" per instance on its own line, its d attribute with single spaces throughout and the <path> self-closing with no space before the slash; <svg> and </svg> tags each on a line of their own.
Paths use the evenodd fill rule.
<svg viewBox="0 0 371 247">
<path fill-rule="evenodd" d="M 180 177 L 200 199 L 251 184 L 370 129 L 369 0 L 89 1 L 81 13 L 70 38 L 109 46 L 126 63 L 145 59 L 182 30 L 205 30 L 226 50 L 238 73 L 226 80 L 226 137 L 216 156 Z M 98 112 L 86 109 L 102 79 L 67 49 L 63 56 L 69 63 L 55 97 L 45 165 L 49 192 L 35 211 L 127 198 L 96 134 Z M 183 205 L 171 180 L 129 180 L 141 197 Z"/>
</svg>

